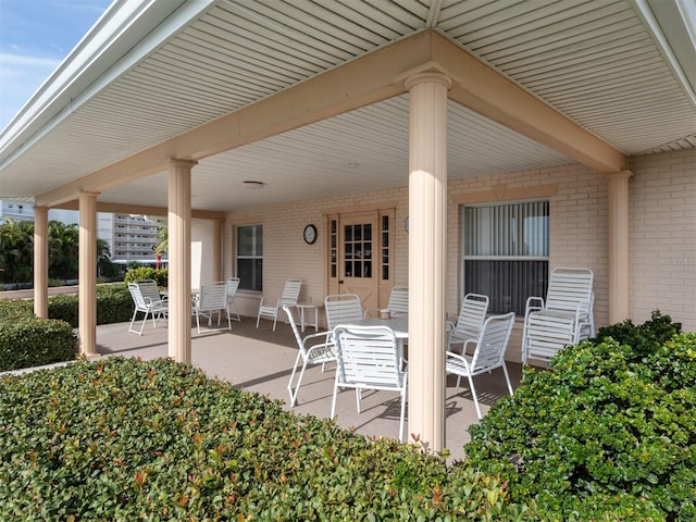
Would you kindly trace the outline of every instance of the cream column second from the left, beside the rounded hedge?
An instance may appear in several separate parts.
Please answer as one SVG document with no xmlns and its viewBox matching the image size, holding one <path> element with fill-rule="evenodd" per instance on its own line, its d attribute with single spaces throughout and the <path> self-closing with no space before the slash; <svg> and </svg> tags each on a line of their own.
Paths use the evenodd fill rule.
<svg viewBox="0 0 696 522">
<path fill-rule="evenodd" d="M 79 352 L 97 355 L 97 192 L 79 192 Z"/>
</svg>

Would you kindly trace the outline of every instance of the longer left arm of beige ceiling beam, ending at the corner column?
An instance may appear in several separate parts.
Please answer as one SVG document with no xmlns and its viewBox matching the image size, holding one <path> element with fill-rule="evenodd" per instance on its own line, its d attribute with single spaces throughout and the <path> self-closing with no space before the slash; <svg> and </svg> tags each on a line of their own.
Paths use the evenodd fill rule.
<svg viewBox="0 0 696 522">
<path fill-rule="evenodd" d="M 369 53 L 41 194 L 35 198 L 36 204 L 55 207 L 75 199 L 79 190 L 101 192 L 164 172 L 170 158 L 200 160 L 402 94 L 403 87 L 394 78 L 427 61 L 428 39 L 428 33 L 421 33 Z"/>
</svg>

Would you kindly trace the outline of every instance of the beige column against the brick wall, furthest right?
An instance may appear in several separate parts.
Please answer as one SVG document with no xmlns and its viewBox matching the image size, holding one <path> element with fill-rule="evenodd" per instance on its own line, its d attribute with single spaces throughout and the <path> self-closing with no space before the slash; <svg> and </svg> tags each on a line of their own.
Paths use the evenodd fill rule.
<svg viewBox="0 0 696 522">
<path fill-rule="evenodd" d="M 608 174 L 609 178 L 609 323 L 630 315 L 629 179 L 631 171 Z"/>
</svg>

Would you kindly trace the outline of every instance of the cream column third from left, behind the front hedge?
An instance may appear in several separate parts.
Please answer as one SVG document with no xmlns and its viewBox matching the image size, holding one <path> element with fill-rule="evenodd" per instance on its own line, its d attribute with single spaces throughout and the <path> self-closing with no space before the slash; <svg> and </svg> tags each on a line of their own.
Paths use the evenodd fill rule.
<svg viewBox="0 0 696 522">
<path fill-rule="evenodd" d="M 169 160 L 169 357 L 191 362 L 191 169 Z"/>
</svg>

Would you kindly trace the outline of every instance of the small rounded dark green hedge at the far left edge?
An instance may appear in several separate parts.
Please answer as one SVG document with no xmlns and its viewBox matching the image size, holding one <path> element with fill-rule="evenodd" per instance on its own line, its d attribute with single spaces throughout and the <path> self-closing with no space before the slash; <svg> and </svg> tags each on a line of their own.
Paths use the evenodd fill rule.
<svg viewBox="0 0 696 522">
<path fill-rule="evenodd" d="M 77 336 L 64 321 L 0 321 L 0 371 L 70 361 L 76 356 Z"/>
</svg>

